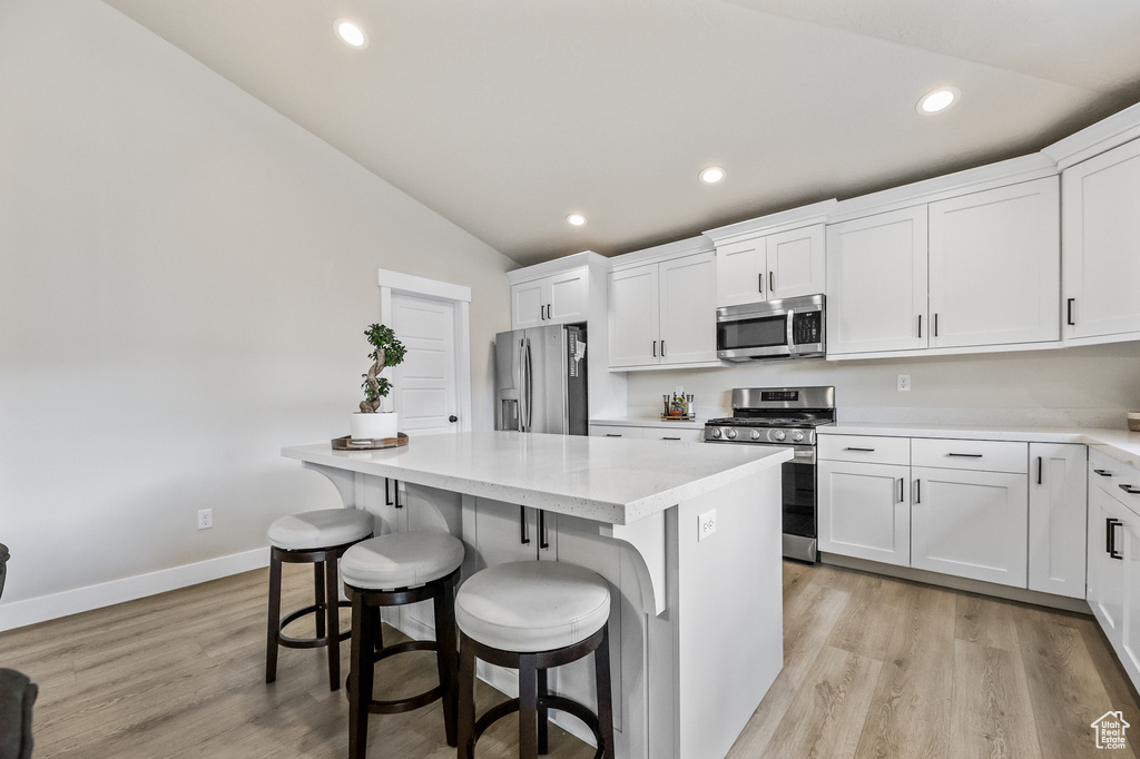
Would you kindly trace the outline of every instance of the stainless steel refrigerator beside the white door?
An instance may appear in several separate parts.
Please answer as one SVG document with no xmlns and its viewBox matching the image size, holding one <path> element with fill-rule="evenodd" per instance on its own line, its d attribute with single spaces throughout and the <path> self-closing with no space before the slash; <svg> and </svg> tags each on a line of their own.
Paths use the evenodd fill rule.
<svg viewBox="0 0 1140 759">
<path fill-rule="evenodd" d="M 495 429 L 588 434 L 586 330 L 551 325 L 495 336 Z"/>
</svg>

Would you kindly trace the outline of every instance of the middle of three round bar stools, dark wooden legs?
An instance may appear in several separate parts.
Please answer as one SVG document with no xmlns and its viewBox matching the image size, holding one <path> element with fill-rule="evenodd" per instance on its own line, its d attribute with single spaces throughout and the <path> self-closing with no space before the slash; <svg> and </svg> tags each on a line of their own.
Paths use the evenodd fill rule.
<svg viewBox="0 0 1140 759">
<path fill-rule="evenodd" d="M 458 661 L 455 632 L 455 588 L 463 565 L 463 541 L 446 532 L 393 532 L 358 542 L 344 552 L 341 573 L 352 604 L 349 664 L 349 757 L 368 751 L 368 715 L 399 715 L 443 700 L 443 731 L 455 745 L 455 701 Z M 435 639 L 384 646 L 380 610 L 432 601 Z M 393 701 L 373 699 L 374 664 L 407 651 L 434 651 L 439 685 Z"/>
</svg>

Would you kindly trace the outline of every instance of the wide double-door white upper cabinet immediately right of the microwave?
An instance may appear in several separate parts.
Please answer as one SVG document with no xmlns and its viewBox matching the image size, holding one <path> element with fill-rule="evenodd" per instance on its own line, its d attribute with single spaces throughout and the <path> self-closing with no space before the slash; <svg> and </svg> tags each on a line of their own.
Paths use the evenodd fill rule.
<svg viewBox="0 0 1140 759">
<path fill-rule="evenodd" d="M 826 234 L 829 357 L 1057 343 L 1053 171 L 1027 156 L 840 204 Z"/>
</svg>

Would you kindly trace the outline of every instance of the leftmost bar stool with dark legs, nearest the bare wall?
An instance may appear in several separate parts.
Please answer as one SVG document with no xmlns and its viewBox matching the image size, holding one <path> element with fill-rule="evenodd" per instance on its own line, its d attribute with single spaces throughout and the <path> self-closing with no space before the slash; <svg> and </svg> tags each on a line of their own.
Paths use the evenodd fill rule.
<svg viewBox="0 0 1140 759">
<path fill-rule="evenodd" d="M 336 558 L 355 542 L 372 537 L 375 520 L 365 511 L 326 508 L 283 516 L 269 525 L 269 627 L 266 639 L 266 683 L 277 679 L 277 648 L 328 647 L 328 688 L 341 686 L 340 583 Z M 282 563 L 312 563 L 314 604 L 282 619 Z M 306 614 L 316 615 L 317 635 L 295 638 L 285 627 Z"/>
</svg>

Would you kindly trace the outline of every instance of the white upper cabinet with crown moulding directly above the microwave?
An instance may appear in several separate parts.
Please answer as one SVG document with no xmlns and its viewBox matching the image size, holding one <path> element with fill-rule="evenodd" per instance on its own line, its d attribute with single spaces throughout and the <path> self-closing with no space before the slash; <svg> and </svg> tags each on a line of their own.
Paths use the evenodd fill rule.
<svg viewBox="0 0 1140 759">
<path fill-rule="evenodd" d="M 824 292 L 823 220 L 834 201 L 705 232 L 716 243 L 716 305 Z"/>
</svg>

